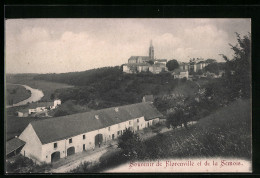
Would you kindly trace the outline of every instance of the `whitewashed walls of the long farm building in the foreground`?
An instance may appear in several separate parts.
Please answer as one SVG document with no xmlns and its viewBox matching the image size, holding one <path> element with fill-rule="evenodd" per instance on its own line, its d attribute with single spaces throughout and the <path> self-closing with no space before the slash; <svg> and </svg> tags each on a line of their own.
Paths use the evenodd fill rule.
<svg viewBox="0 0 260 178">
<path fill-rule="evenodd" d="M 114 134 L 114 138 L 116 139 L 118 138 L 118 136 L 120 136 L 123 133 L 123 130 L 125 130 L 126 128 L 132 127 L 134 131 L 137 131 L 139 126 L 139 130 L 142 130 L 143 128 L 147 127 L 147 122 L 150 123 L 150 126 L 153 125 L 154 120 L 159 121 L 159 118 L 149 120 L 149 121 L 145 121 L 144 117 L 135 118 L 125 122 L 121 122 L 119 124 L 112 125 L 110 126 L 110 129 L 109 127 L 105 127 L 99 130 L 70 137 L 72 138 L 72 143 L 69 143 L 70 138 L 67 138 L 67 139 L 47 143 L 44 145 L 41 145 L 40 140 L 36 136 L 34 130 L 32 129 L 32 126 L 29 124 L 30 127 L 28 126 L 28 128 L 26 128 L 26 130 L 22 133 L 21 139 L 26 142 L 24 149 L 26 152 L 33 155 L 31 157 L 38 157 L 38 160 L 41 160 L 41 162 L 50 163 L 51 154 L 56 151 L 60 152 L 60 158 L 64 158 L 65 156 L 67 156 L 67 149 L 72 146 L 75 147 L 75 153 L 83 151 L 83 144 L 85 144 L 86 150 L 94 149 L 95 136 L 97 134 L 103 135 L 102 144 L 108 144 L 112 140 L 113 134 Z M 118 131 L 120 131 L 119 135 L 118 135 Z M 83 135 L 85 135 L 85 139 L 83 139 Z M 54 143 L 57 143 L 57 148 L 54 148 Z M 28 156 L 28 154 L 26 154 L 26 156 Z"/>
</svg>

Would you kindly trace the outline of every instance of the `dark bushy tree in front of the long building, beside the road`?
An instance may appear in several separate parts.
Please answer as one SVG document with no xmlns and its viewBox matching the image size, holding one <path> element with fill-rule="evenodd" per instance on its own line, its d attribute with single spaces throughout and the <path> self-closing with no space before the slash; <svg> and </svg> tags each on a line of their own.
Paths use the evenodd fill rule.
<svg viewBox="0 0 260 178">
<path fill-rule="evenodd" d="M 127 159 L 142 159 L 145 157 L 145 145 L 137 134 L 129 129 L 118 138 L 118 148 L 122 149 L 122 156 Z"/>
</svg>

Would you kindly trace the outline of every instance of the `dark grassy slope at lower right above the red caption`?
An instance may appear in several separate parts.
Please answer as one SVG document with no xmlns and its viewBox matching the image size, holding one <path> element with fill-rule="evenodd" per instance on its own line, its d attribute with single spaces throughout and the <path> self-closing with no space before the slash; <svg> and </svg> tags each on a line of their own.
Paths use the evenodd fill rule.
<svg viewBox="0 0 260 178">
<path fill-rule="evenodd" d="M 160 134 L 146 142 L 151 158 L 236 157 L 251 159 L 251 108 L 249 100 L 199 120 L 189 130 Z"/>
</svg>

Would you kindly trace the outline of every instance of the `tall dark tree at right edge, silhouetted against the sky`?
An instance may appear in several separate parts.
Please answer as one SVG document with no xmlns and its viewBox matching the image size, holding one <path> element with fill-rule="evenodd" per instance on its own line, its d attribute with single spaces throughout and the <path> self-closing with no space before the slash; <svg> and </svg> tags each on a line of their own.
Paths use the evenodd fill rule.
<svg viewBox="0 0 260 178">
<path fill-rule="evenodd" d="M 226 85 L 230 87 L 233 94 L 237 97 L 250 97 L 250 60 L 251 60 L 251 34 L 243 36 L 236 33 L 237 44 L 232 45 L 231 49 L 234 51 L 233 59 L 220 54 L 226 61 L 225 81 Z"/>
</svg>

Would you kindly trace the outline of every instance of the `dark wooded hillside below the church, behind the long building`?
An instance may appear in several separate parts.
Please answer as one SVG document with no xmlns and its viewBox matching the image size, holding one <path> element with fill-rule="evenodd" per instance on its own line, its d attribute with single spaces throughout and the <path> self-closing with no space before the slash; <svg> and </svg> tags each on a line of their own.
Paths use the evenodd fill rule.
<svg viewBox="0 0 260 178">
<path fill-rule="evenodd" d="M 125 74 L 120 67 L 105 67 L 84 72 L 64 74 L 41 74 L 34 80 L 74 85 L 74 88 L 58 89 L 55 96 L 62 102 L 77 101 L 90 109 L 102 109 L 142 101 L 144 95 L 161 96 L 178 92 L 184 96 L 194 95 L 195 83 L 176 80 L 170 73 Z"/>
</svg>

